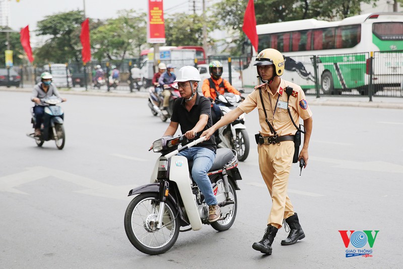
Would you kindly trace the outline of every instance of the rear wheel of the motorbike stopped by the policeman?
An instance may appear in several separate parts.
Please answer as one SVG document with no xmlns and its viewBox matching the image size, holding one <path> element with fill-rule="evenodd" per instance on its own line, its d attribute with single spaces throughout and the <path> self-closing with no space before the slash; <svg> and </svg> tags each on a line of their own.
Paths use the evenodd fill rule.
<svg viewBox="0 0 403 269">
<path fill-rule="evenodd" d="M 231 228 L 231 226 L 234 224 L 238 208 L 238 200 L 236 197 L 234 183 L 232 183 L 232 181 L 230 180 L 228 180 L 228 183 L 230 187 L 229 195 L 234 203 L 220 207 L 224 220 L 219 220 L 211 223 L 211 227 L 219 232 L 226 231 Z M 219 195 L 220 193 L 225 193 L 224 180 L 219 179 L 216 184 L 218 185 L 217 195 Z"/>
</svg>

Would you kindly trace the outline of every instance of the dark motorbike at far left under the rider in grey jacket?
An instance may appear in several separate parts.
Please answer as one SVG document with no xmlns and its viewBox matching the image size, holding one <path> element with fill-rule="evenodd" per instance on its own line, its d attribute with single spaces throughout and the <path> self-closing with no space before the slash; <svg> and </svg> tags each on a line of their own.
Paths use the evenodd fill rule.
<svg viewBox="0 0 403 269">
<path fill-rule="evenodd" d="M 34 136 L 34 133 L 27 135 L 35 139 L 38 147 L 41 147 L 45 141 L 54 140 L 56 142 L 56 147 L 62 149 L 65 142 L 63 127 L 64 112 L 61 107 L 57 105 L 58 103 L 61 103 L 62 100 L 56 96 L 51 96 L 41 99 L 41 102 L 48 104 L 45 106 L 41 135 L 39 137 Z M 31 114 L 31 123 L 35 128 L 36 119 L 33 108 L 31 108 Z"/>
</svg>

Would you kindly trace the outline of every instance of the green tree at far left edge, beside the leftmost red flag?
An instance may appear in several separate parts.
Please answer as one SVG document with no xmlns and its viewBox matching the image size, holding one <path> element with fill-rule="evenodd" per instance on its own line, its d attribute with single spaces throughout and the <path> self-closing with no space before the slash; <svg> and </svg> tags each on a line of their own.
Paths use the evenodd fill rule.
<svg viewBox="0 0 403 269">
<path fill-rule="evenodd" d="M 0 66 L 6 65 L 6 56 L 4 51 L 7 49 L 7 33 L 1 32 L 2 30 L 11 30 L 10 27 L 0 27 Z M 10 49 L 13 50 L 13 63 L 14 65 L 23 64 L 23 57 L 25 56 L 24 49 L 20 42 L 20 33 L 9 32 Z"/>
</svg>

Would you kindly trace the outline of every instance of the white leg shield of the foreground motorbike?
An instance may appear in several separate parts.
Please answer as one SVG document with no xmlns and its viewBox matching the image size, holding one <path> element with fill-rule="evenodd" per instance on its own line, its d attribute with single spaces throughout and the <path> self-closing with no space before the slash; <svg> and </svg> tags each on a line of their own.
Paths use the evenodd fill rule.
<svg viewBox="0 0 403 269">
<path fill-rule="evenodd" d="M 191 180 L 189 178 L 187 158 L 174 155 L 171 157 L 170 162 L 169 180 L 174 181 L 178 187 L 192 230 L 200 230 L 201 220 L 190 188 Z"/>
</svg>

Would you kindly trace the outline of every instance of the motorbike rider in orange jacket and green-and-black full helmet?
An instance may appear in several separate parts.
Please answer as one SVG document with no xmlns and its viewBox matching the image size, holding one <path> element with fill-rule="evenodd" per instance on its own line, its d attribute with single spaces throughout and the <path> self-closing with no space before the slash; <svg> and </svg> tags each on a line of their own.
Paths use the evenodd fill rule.
<svg viewBox="0 0 403 269">
<path fill-rule="evenodd" d="M 241 95 L 231 83 L 227 80 L 221 78 L 223 74 L 223 64 L 219 61 L 213 61 L 209 65 L 209 72 L 211 77 L 203 81 L 203 86 L 201 86 L 201 91 L 203 95 L 210 99 L 212 102 L 212 117 L 213 124 L 218 122 L 221 118 L 220 107 L 215 103 L 215 99 L 219 94 L 224 94 L 224 92 L 232 92 L 237 95 Z"/>
</svg>

